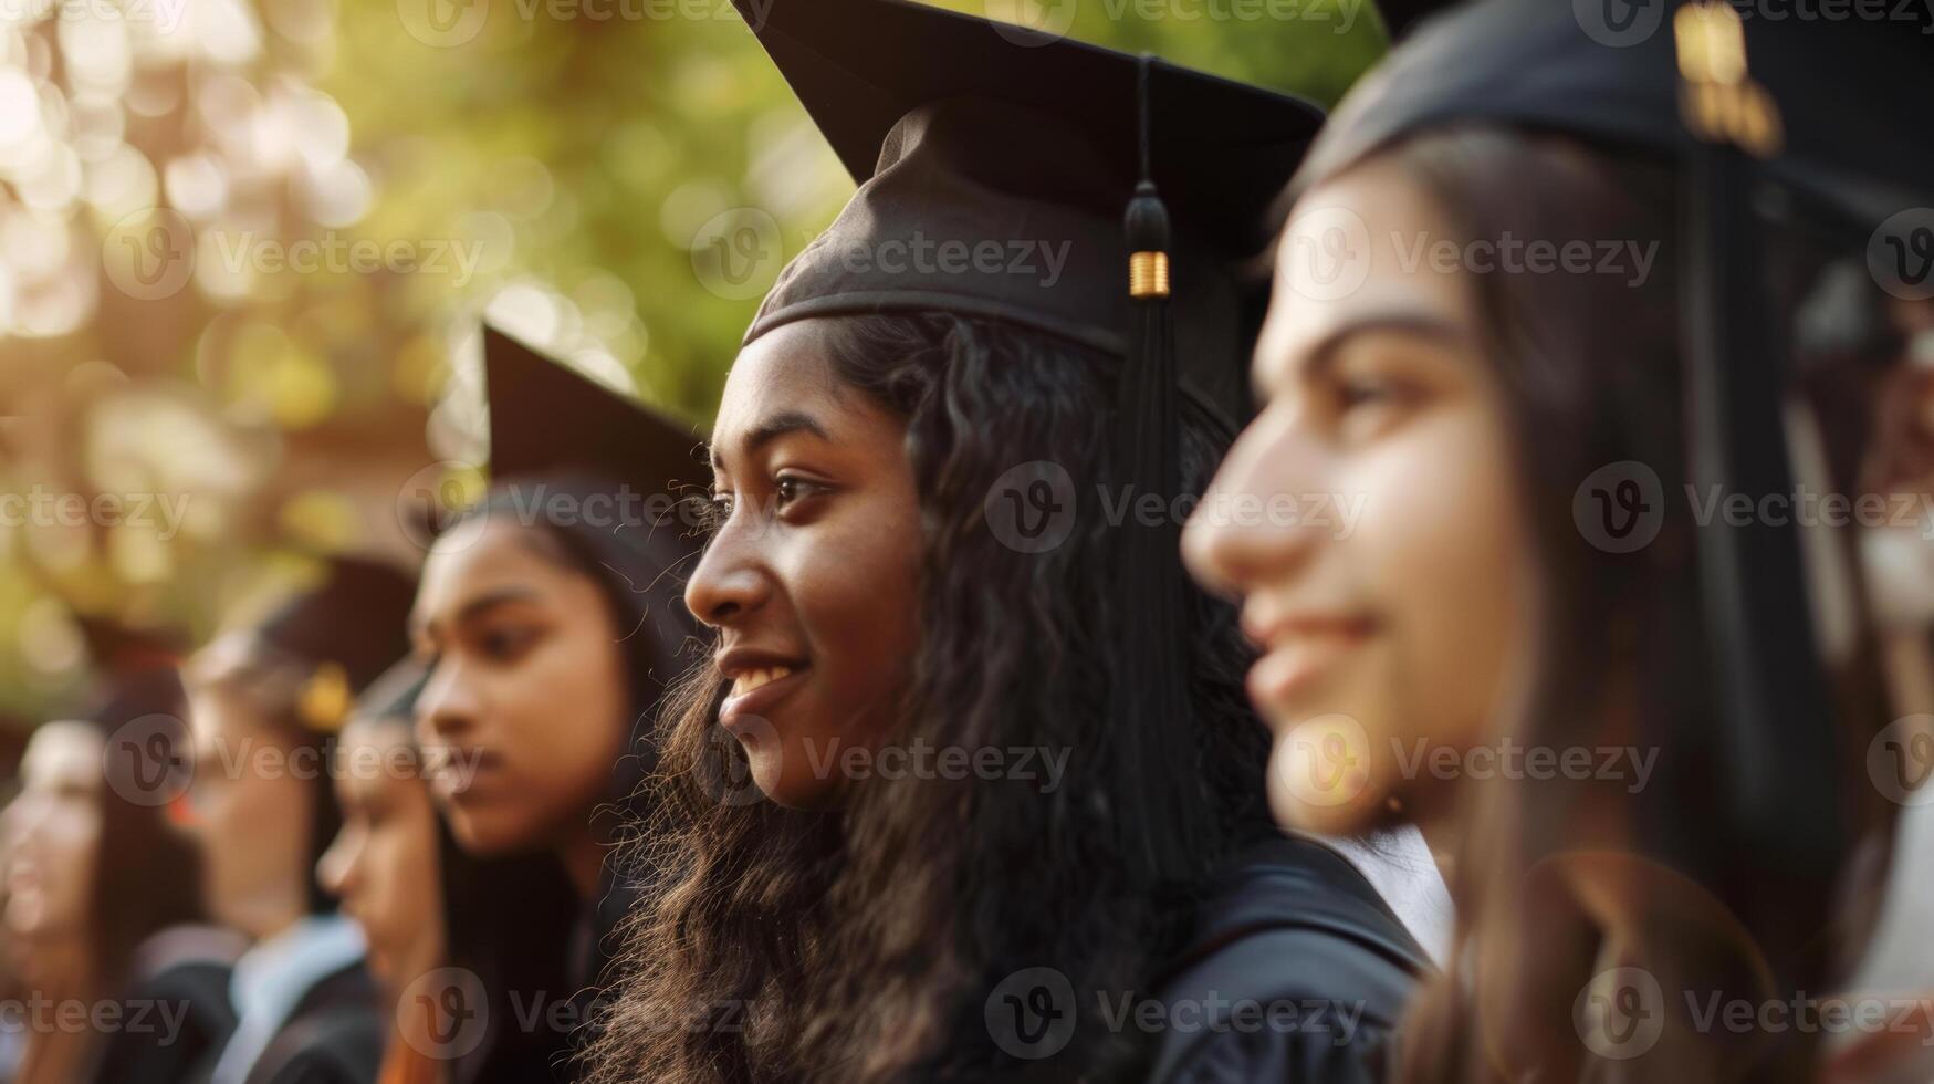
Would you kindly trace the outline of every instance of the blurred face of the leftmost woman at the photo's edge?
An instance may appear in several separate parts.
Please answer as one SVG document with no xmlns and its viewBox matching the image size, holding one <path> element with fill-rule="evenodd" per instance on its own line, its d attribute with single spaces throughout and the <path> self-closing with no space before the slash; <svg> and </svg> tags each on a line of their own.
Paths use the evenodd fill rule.
<svg viewBox="0 0 1934 1084">
<path fill-rule="evenodd" d="M 6 811 L 6 925 L 29 958 L 37 943 L 87 935 L 103 747 L 85 722 L 48 722 L 27 741 L 21 792 Z"/>
</svg>

